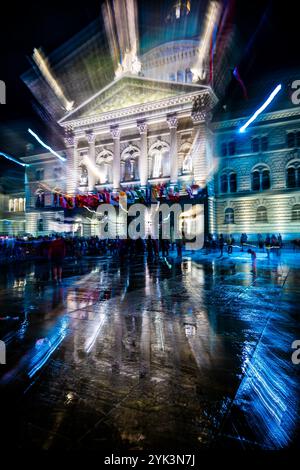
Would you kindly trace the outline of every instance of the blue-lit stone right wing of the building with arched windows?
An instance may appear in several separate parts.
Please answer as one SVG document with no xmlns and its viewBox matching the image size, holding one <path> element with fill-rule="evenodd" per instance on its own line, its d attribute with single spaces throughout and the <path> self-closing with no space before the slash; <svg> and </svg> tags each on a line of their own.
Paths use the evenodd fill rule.
<svg viewBox="0 0 300 470">
<path fill-rule="evenodd" d="M 219 233 L 252 239 L 257 234 L 300 234 L 300 107 L 288 86 L 274 110 L 266 110 L 245 133 L 247 118 L 215 122 L 215 221 Z"/>
</svg>

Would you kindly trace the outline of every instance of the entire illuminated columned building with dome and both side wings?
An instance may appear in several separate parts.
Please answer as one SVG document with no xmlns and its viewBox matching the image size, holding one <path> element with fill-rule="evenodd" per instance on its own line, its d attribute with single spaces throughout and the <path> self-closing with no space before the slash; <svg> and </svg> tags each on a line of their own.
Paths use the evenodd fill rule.
<svg viewBox="0 0 300 470">
<path fill-rule="evenodd" d="M 28 164 L 27 232 L 96 235 L 95 199 L 100 204 L 108 199 L 115 203 L 125 192 L 131 203 L 204 204 L 207 233 L 246 232 L 251 238 L 257 233 L 280 232 L 287 238 L 299 234 L 300 110 L 295 106 L 266 110 L 243 134 L 238 129 L 244 117 L 212 120 L 218 98 L 231 79 L 228 70 L 236 63 L 231 2 L 225 11 L 210 2 L 200 29 L 195 23 L 199 12 L 193 14 L 193 5 L 175 2 L 152 46 L 142 47 L 136 3 L 105 2 L 114 78 L 108 74 L 106 84 L 97 91 L 93 88 L 88 96 L 84 82 L 84 99 L 72 93 L 75 85 L 80 88 L 77 72 L 80 69 L 83 79 L 82 66 L 72 80 L 64 61 L 62 76 L 68 77 L 64 95 L 38 55 L 36 63 L 45 80 L 29 79 L 29 74 L 25 81 L 37 99 L 51 97 L 46 109 L 64 131 L 65 149 L 59 153 L 66 161 L 51 153 L 23 158 Z M 221 26 L 214 40 L 218 22 Z M 79 60 L 82 54 L 79 48 L 79 55 L 72 53 L 72 57 Z M 58 72 L 59 67 L 56 76 Z M 90 72 L 93 77 L 101 75 L 94 68 L 88 72 L 87 79 Z M 40 81 L 48 83 L 47 93 Z"/>
</svg>

